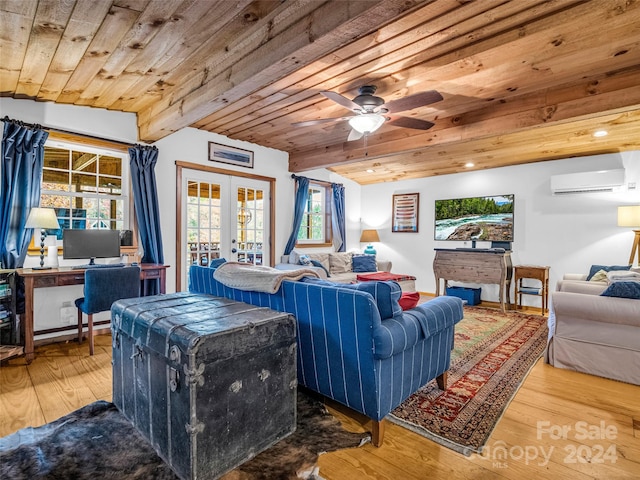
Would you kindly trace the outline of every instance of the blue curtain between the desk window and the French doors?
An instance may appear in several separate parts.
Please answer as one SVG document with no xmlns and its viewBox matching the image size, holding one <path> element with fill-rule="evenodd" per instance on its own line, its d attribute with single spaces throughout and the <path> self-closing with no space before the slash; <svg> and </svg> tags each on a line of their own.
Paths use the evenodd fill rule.
<svg viewBox="0 0 640 480">
<path fill-rule="evenodd" d="M 136 208 L 136 218 L 140 231 L 140 241 L 144 248 L 143 263 L 164 263 L 162 233 L 160 231 L 160 210 L 158 209 L 158 188 L 155 167 L 158 149 L 153 146 L 136 145 L 129 148 L 131 158 L 131 183 Z M 160 293 L 160 281 L 147 282 L 144 295 Z"/>
</svg>

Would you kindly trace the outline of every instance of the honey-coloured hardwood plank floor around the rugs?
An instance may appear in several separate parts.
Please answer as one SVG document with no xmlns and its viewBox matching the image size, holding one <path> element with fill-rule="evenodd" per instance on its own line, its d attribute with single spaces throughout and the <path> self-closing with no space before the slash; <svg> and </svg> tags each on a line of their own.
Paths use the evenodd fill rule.
<svg viewBox="0 0 640 480">
<path fill-rule="evenodd" d="M 0 367 L 0 436 L 111 400 L 111 337 L 38 347 L 36 359 Z M 330 410 L 351 430 L 361 417 Z M 564 434 L 563 430 L 564 429 Z M 500 447 L 503 447 L 500 450 Z M 506 450 L 505 450 L 506 449 Z M 506 452 L 499 457 L 498 453 Z M 631 479 L 640 475 L 640 387 L 560 370 L 539 361 L 487 443 L 464 457 L 388 422 L 380 448 L 320 457 L 327 480 Z"/>
</svg>

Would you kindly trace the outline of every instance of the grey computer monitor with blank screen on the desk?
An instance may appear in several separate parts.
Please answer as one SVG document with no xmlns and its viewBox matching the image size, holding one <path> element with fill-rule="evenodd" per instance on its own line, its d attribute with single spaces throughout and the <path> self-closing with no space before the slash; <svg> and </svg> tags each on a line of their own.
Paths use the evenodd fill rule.
<svg viewBox="0 0 640 480">
<path fill-rule="evenodd" d="M 90 259 L 120 256 L 120 230 L 64 229 L 62 234 L 62 258 Z"/>
</svg>

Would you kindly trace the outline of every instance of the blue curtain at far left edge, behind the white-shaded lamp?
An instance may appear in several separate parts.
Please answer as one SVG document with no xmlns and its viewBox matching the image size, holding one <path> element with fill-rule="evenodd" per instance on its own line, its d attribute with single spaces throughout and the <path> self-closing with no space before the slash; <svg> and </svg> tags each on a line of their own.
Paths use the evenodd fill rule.
<svg viewBox="0 0 640 480">
<path fill-rule="evenodd" d="M 0 187 L 0 260 L 4 268 L 21 268 L 31 241 L 25 230 L 31 208 L 40 205 L 44 142 L 49 133 L 4 118 Z"/>
</svg>

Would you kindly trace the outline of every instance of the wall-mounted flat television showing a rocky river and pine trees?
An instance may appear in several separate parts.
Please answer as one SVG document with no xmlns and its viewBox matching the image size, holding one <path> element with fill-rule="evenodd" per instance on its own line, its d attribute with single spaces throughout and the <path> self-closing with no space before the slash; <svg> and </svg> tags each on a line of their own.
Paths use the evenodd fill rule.
<svg viewBox="0 0 640 480">
<path fill-rule="evenodd" d="M 513 194 L 435 202 L 435 240 L 513 241 Z"/>
</svg>

